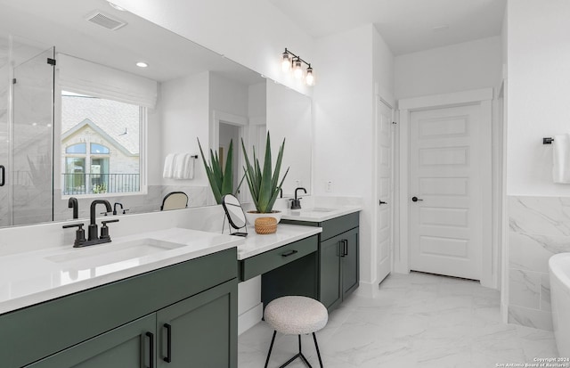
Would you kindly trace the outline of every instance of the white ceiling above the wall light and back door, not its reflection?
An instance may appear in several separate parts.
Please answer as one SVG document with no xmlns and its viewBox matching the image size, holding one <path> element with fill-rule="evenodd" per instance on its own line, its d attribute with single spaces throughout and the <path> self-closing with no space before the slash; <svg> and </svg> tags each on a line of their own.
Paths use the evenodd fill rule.
<svg viewBox="0 0 570 368">
<path fill-rule="evenodd" d="M 506 0 L 269 0 L 319 38 L 374 24 L 395 55 L 501 34 Z M 448 26 L 448 29 L 434 30 Z"/>
</svg>

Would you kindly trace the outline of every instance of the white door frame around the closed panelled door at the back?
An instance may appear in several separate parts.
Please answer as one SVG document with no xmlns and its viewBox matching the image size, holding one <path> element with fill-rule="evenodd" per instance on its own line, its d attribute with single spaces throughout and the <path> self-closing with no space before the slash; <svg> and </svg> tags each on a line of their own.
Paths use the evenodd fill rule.
<svg viewBox="0 0 570 368">
<path fill-rule="evenodd" d="M 481 108 L 481 137 L 489 137 L 481 141 L 480 174 L 484 178 L 481 185 L 482 203 L 482 242 L 481 251 L 481 285 L 497 288 L 497 258 L 493 258 L 492 236 L 492 123 L 493 123 L 493 88 L 462 91 L 452 94 L 434 94 L 413 97 L 398 101 L 399 110 L 399 243 L 395 244 L 394 271 L 407 274 L 410 272 L 410 118 L 411 112 L 419 110 L 440 109 L 462 105 L 479 105 Z"/>
</svg>

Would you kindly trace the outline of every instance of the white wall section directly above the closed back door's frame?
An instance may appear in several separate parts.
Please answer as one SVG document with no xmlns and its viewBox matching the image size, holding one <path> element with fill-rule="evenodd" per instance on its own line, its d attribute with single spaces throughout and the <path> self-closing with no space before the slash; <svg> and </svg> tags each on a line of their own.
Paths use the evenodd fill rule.
<svg viewBox="0 0 570 368">
<path fill-rule="evenodd" d="M 501 37 L 395 57 L 395 97 L 410 98 L 498 86 Z"/>
</svg>

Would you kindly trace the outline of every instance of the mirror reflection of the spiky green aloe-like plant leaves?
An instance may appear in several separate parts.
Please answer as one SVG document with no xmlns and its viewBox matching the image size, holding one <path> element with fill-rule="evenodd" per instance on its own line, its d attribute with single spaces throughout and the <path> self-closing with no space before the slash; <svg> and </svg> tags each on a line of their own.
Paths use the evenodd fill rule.
<svg viewBox="0 0 570 368">
<path fill-rule="evenodd" d="M 233 192 L 233 140 L 230 141 L 230 146 L 228 148 L 228 154 L 225 158 L 225 168 L 222 168 L 222 163 L 215 153 L 210 148 L 210 159 L 206 161 L 204 156 L 204 151 L 202 151 L 202 146 L 199 143 L 199 153 L 202 155 L 202 161 L 204 162 L 204 168 L 206 168 L 206 175 L 208 176 L 208 182 L 214 193 L 214 198 L 217 204 L 222 203 L 222 197 L 225 194 L 234 194 Z M 241 178 L 236 192 L 240 189 L 241 183 L 243 182 L 243 177 Z"/>
</svg>

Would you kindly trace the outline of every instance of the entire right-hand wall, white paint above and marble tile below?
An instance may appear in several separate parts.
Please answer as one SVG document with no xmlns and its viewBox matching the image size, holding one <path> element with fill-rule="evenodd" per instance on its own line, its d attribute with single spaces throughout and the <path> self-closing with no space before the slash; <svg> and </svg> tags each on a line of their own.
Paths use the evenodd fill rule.
<svg viewBox="0 0 570 368">
<path fill-rule="evenodd" d="M 548 259 L 569 250 L 570 185 L 552 183 L 552 146 L 542 144 L 570 131 L 568 19 L 565 0 L 509 0 L 503 30 L 510 226 L 502 302 L 509 323 L 543 329 L 552 328 Z"/>
</svg>

